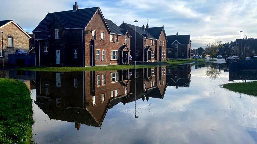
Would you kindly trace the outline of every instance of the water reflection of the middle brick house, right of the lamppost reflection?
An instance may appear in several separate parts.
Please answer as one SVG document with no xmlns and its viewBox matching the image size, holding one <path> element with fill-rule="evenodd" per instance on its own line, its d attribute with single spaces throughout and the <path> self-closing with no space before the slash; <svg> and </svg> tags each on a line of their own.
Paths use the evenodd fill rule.
<svg viewBox="0 0 257 144">
<path fill-rule="evenodd" d="M 136 74 L 131 76 L 131 84 L 135 83 L 135 76 L 136 85 L 135 87 L 131 87 L 131 93 L 135 93 L 136 88 L 136 98 L 135 94 L 132 94 L 127 99 L 123 99 L 123 104 L 141 98 L 147 101 L 149 98 L 164 98 L 166 90 L 166 66 L 137 69 Z"/>
</svg>

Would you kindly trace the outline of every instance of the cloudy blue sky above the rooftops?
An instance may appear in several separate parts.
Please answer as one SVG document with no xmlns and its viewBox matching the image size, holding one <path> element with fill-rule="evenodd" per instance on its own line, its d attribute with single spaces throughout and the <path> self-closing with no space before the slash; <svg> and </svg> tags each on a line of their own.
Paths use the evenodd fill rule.
<svg viewBox="0 0 257 144">
<path fill-rule="evenodd" d="M 190 34 L 192 49 L 205 48 L 210 41 L 241 39 L 239 31 L 243 38 L 257 38 L 256 0 L 1 0 L 0 20 L 13 19 L 31 32 L 48 11 L 72 10 L 75 2 L 79 9 L 100 4 L 104 17 L 118 26 L 134 20 L 142 26 L 150 19 L 150 27 L 164 25 L 166 35 Z"/>
</svg>

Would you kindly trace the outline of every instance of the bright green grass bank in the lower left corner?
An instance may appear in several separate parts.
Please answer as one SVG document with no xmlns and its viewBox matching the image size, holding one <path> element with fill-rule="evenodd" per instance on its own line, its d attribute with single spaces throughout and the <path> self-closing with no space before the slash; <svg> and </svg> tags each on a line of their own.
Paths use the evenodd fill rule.
<svg viewBox="0 0 257 144">
<path fill-rule="evenodd" d="M 32 100 L 20 80 L 0 78 L 0 143 L 30 143 Z"/>
</svg>

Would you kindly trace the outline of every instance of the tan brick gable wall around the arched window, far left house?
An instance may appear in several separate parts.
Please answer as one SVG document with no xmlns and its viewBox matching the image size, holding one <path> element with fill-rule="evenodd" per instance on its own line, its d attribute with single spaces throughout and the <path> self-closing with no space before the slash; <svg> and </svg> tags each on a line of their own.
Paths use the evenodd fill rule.
<svg viewBox="0 0 257 144">
<path fill-rule="evenodd" d="M 8 54 L 13 54 L 17 50 L 29 52 L 29 38 L 16 25 L 9 23 L 0 30 L 3 31 L 3 49 L 4 49 L 4 63 L 8 63 Z M 13 37 L 13 47 L 8 47 L 8 35 Z M 0 33 L 0 44 L 2 50 L 2 35 Z M 2 63 L 2 58 L 0 63 Z"/>
</svg>

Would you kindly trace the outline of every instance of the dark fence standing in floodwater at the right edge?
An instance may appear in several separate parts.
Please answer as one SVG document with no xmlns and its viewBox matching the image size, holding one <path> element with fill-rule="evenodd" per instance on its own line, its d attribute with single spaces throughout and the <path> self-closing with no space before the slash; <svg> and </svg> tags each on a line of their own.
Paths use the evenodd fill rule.
<svg viewBox="0 0 257 144">
<path fill-rule="evenodd" d="M 239 60 L 229 63 L 229 71 L 257 69 L 257 60 Z"/>
</svg>

